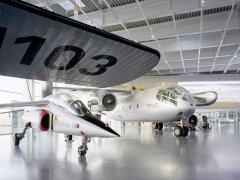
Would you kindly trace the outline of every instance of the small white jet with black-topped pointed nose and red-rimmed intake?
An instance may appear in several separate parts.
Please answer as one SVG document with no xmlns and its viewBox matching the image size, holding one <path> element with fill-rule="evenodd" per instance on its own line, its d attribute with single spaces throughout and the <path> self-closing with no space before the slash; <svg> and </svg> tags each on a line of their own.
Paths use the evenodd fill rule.
<svg viewBox="0 0 240 180">
<path fill-rule="evenodd" d="M 87 143 L 91 137 L 119 137 L 114 130 L 91 114 L 88 108 L 77 97 L 59 93 L 40 101 L 0 104 L 0 108 L 21 107 L 21 120 L 25 124 L 23 133 L 15 134 L 15 145 L 18 146 L 28 128 L 37 131 L 52 131 L 82 136 L 82 145 L 78 153 L 84 156 L 88 150 Z"/>
</svg>

